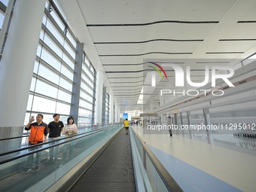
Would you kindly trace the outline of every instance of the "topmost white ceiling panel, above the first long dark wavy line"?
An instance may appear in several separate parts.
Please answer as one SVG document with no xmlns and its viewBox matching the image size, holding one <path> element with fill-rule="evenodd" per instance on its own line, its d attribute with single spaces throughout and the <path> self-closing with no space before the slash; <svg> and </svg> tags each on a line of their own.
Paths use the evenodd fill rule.
<svg viewBox="0 0 256 192">
<path fill-rule="evenodd" d="M 78 0 L 88 24 L 150 23 L 156 20 L 221 20 L 235 0 Z M 203 17 L 202 17 L 203 15 Z M 147 16 L 147 17 L 145 17 Z M 132 21 L 132 22 L 131 22 Z"/>
</svg>

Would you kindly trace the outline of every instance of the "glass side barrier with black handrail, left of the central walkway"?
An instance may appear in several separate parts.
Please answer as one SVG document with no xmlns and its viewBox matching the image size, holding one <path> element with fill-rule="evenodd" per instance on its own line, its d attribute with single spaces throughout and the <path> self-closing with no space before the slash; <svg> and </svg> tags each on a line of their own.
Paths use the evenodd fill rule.
<svg viewBox="0 0 256 192">
<path fill-rule="evenodd" d="M 0 185 L 5 191 L 44 191 L 63 176 L 73 174 L 75 166 L 90 158 L 105 142 L 120 130 L 121 125 L 115 124 L 76 136 L 63 137 L 53 142 L 27 146 L 0 154 Z M 38 147 L 38 148 L 35 148 Z M 50 161 L 50 150 L 56 151 Z M 32 162 L 31 171 L 25 173 L 29 157 L 39 156 L 39 167 L 36 160 Z M 35 169 L 34 169 L 35 166 Z M 71 172 L 71 173 L 69 173 Z M 70 176 L 70 175 L 69 175 Z"/>
</svg>

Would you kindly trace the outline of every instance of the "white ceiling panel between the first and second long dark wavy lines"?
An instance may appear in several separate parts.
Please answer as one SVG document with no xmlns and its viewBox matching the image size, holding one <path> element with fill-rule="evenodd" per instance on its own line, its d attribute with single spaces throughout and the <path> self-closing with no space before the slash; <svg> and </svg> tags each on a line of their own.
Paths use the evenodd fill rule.
<svg viewBox="0 0 256 192">
<path fill-rule="evenodd" d="M 207 21 L 206 21 L 207 22 Z M 148 26 L 89 26 L 93 41 L 203 40 L 216 23 L 156 23 Z"/>
</svg>

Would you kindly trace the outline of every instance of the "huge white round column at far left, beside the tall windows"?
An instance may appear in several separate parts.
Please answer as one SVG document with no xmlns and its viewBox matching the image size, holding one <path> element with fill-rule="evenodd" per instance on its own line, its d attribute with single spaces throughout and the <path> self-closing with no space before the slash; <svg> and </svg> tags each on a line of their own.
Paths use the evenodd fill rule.
<svg viewBox="0 0 256 192">
<path fill-rule="evenodd" d="M 14 8 L 0 63 L 1 138 L 23 133 L 45 2 L 17 1 Z"/>
</svg>

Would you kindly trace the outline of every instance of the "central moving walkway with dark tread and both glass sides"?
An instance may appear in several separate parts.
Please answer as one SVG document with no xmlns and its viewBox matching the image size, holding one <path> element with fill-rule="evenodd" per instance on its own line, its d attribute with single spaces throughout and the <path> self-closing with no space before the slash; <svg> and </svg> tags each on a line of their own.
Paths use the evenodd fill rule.
<svg viewBox="0 0 256 192">
<path fill-rule="evenodd" d="M 121 124 L 29 148 L 0 154 L 3 191 L 182 191 L 133 129 L 125 135 Z M 53 162 L 50 148 L 58 152 Z M 40 170 L 24 173 L 28 155 L 36 153 Z"/>
</svg>

